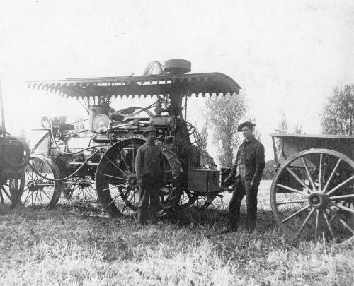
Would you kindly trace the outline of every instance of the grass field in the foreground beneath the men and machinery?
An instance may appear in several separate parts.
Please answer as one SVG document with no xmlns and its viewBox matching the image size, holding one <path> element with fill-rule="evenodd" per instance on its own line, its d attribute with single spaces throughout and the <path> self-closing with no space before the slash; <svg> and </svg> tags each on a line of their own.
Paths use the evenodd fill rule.
<svg viewBox="0 0 354 286">
<path fill-rule="evenodd" d="M 216 234 L 229 193 L 223 205 L 217 199 L 142 230 L 133 217 L 65 201 L 51 211 L 11 210 L 0 215 L 0 285 L 353 285 L 353 248 L 287 241 L 269 189 L 262 181 L 253 234 L 243 224 Z"/>
</svg>

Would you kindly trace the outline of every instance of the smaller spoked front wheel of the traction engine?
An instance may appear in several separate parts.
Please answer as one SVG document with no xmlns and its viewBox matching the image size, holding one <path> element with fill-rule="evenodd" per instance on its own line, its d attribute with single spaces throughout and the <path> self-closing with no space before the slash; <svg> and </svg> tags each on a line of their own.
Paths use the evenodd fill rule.
<svg viewBox="0 0 354 286">
<path fill-rule="evenodd" d="M 43 179 L 38 174 L 48 179 L 61 177 L 59 169 L 50 159 L 40 156 L 30 157 L 25 167 L 22 202 L 27 207 L 51 210 L 59 201 L 62 182 Z"/>
</svg>

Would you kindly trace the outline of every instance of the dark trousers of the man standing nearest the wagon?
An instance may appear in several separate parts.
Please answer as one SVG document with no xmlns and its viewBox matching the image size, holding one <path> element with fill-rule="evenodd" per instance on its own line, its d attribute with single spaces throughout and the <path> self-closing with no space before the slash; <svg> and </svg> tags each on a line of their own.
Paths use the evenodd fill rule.
<svg viewBox="0 0 354 286">
<path fill-rule="evenodd" d="M 258 186 L 251 186 L 251 181 L 237 177 L 234 193 L 229 204 L 229 230 L 237 230 L 240 220 L 240 208 L 242 198 L 246 195 L 246 231 L 253 232 L 257 218 L 257 193 Z"/>
</svg>

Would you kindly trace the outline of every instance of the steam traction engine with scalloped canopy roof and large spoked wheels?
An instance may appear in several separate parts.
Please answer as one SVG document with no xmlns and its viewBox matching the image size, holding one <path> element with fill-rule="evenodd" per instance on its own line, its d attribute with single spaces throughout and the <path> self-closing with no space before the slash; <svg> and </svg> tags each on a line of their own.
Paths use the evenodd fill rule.
<svg viewBox="0 0 354 286">
<path fill-rule="evenodd" d="M 222 73 L 188 74 L 190 67 L 189 61 L 172 59 L 157 75 L 28 82 L 29 88 L 75 97 L 89 112 L 89 129 L 74 129 L 64 119 L 42 120 L 45 135 L 31 151 L 27 171 L 38 192 L 31 177 L 41 188 L 48 187 L 51 199 L 44 205 L 52 208 L 63 191 L 69 199 L 98 198 L 110 215 L 136 210 L 135 154 L 150 125 L 158 131 L 156 145 L 168 166 L 166 186 L 160 190 L 161 214 L 193 203 L 209 205 L 220 191 L 219 171 L 195 127 L 185 121 L 188 98 L 239 93 L 240 87 Z M 156 102 L 145 108 L 110 107 L 110 100 L 124 96 L 151 96 Z M 93 181 L 96 194 L 90 191 Z"/>
</svg>

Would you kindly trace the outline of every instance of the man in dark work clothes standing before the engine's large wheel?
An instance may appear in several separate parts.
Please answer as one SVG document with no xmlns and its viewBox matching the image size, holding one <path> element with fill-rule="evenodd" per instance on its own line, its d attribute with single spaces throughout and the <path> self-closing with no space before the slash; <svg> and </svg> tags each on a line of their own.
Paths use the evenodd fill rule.
<svg viewBox="0 0 354 286">
<path fill-rule="evenodd" d="M 164 155 L 154 143 L 156 129 L 149 126 L 143 135 L 147 143 L 137 150 L 135 172 L 137 174 L 140 199 L 137 205 L 137 222 L 139 227 L 146 223 L 150 199 L 150 221 L 157 222 L 157 206 L 159 205 L 160 186 L 166 185 Z"/>
</svg>

